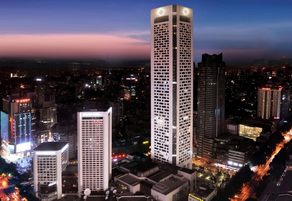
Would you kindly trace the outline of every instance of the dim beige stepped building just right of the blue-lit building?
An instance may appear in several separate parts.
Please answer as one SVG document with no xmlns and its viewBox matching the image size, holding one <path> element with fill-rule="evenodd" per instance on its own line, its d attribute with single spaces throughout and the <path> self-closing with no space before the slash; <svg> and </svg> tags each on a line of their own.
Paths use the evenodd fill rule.
<svg viewBox="0 0 292 201">
<path fill-rule="evenodd" d="M 57 104 L 52 101 L 43 102 L 43 108 L 40 109 L 40 124 L 44 130 L 50 130 L 57 123 Z"/>
</svg>

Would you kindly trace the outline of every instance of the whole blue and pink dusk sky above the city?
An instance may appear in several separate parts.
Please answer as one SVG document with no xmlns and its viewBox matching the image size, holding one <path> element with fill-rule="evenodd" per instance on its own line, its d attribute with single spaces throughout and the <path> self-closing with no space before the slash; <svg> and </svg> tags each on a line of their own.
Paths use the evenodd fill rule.
<svg viewBox="0 0 292 201">
<path fill-rule="evenodd" d="M 292 58 L 290 0 L 1 0 L 0 58 L 150 60 L 150 10 L 193 9 L 194 61 Z"/>
</svg>

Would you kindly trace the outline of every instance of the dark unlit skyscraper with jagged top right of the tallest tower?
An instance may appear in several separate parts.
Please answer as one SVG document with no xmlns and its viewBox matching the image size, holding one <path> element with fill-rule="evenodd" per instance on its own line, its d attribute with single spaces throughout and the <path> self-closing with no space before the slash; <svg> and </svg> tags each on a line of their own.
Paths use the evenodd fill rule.
<svg viewBox="0 0 292 201">
<path fill-rule="evenodd" d="M 224 132 L 225 62 L 219 55 L 202 55 L 198 63 L 198 155 L 211 158 L 215 137 Z"/>
</svg>

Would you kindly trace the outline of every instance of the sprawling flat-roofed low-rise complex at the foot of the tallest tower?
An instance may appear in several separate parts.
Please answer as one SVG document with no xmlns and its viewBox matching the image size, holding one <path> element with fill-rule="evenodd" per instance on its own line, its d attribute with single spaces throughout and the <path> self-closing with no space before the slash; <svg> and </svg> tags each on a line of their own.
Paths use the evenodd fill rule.
<svg viewBox="0 0 292 201">
<path fill-rule="evenodd" d="M 172 164 L 129 159 L 114 169 L 128 172 L 114 177 L 123 193 L 142 192 L 158 201 L 179 201 L 187 200 L 188 194 L 196 188 L 196 171 Z"/>
</svg>

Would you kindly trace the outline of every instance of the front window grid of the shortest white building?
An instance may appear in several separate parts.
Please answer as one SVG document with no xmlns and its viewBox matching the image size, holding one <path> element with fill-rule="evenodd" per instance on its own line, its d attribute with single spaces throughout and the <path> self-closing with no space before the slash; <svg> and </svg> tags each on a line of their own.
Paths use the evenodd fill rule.
<svg viewBox="0 0 292 201">
<path fill-rule="evenodd" d="M 40 184 L 50 184 L 57 181 L 57 157 L 56 156 L 38 156 L 37 174 Z"/>
</svg>

